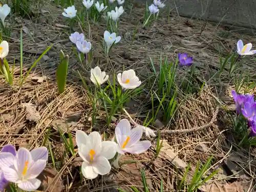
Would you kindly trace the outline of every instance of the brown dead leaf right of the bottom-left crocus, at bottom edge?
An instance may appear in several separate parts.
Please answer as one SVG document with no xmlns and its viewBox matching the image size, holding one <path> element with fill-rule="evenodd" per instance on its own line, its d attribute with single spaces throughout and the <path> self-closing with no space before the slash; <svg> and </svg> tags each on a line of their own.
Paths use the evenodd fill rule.
<svg viewBox="0 0 256 192">
<path fill-rule="evenodd" d="M 58 172 L 55 168 L 47 166 L 42 173 L 38 176 L 38 179 L 41 181 L 40 188 L 38 190 L 46 191 L 50 186 L 48 191 L 61 192 L 63 185 L 61 182 L 61 177 L 54 180 L 54 177 L 58 175 Z"/>
</svg>

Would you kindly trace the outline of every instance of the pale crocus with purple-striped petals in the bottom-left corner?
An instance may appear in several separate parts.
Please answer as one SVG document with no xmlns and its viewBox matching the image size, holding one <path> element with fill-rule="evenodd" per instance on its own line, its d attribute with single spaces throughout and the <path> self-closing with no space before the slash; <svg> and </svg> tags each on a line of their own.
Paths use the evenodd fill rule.
<svg viewBox="0 0 256 192">
<path fill-rule="evenodd" d="M 29 152 L 19 148 L 17 155 L 0 153 L 0 164 L 7 181 L 16 183 L 22 190 L 36 190 L 41 181 L 36 177 L 44 170 L 48 159 L 46 147 L 38 147 Z"/>
</svg>

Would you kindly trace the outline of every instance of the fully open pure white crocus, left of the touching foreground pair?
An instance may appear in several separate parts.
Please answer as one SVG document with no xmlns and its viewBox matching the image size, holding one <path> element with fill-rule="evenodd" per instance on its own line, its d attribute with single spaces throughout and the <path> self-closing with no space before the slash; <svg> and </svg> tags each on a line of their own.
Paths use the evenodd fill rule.
<svg viewBox="0 0 256 192">
<path fill-rule="evenodd" d="M 108 174 L 111 165 L 108 159 L 112 159 L 115 154 L 115 142 L 102 141 L 98 132 L 89 135 L 82 131 L 76 132 L 76 143 L 78 154 L 82 158 L 82 175 L 87 179 L 94 179 L 98 175 Z"/>
</svg>

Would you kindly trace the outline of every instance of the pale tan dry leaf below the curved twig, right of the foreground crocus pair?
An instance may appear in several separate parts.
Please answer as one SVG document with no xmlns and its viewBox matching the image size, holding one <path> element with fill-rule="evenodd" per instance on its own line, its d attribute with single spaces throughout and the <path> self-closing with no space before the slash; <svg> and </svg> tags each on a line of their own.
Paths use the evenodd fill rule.
<svg viewBox="0 0 256 192">
<path fill-rule="evenodd" d="M 178 154 L 174 152 L 173 147 L 171 147 L 167 143 L 167 140 L 160 140 L 160 143 L 162 141 L 163 141 L 163 145 L 160 150 L 160 155 L 162 157 L 164 157 L 165 159 L 168 159 L 170 162 L 172 162 L 178 168 L 185 168 L 187 166 L 187 164 L 178 157 Z"/>
</svg>

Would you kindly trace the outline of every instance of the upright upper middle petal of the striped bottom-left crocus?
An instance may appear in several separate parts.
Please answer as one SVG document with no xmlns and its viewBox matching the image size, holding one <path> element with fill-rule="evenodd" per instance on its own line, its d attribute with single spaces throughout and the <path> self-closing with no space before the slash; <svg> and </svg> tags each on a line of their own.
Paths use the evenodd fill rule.
<svg viewBox="0 0 256 192">
<path fill-rule="evenodd" d="M 27 163 L 28 162 L 28 163 Z M 22 175 L 25 165 L 27 164 L 30 167 L 30 164 L 33 163 L 32 156 L 27 148 L 19 148 L 17 153 L 17 172 L 18 175 Z"/>
</svg>

